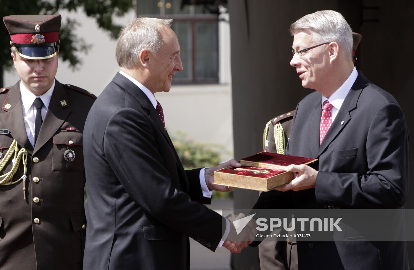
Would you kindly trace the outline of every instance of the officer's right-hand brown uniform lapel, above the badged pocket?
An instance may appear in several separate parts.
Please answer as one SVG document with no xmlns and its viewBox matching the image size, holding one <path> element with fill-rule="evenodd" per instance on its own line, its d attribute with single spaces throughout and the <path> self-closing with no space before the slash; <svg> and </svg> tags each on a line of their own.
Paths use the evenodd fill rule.
<svg viewBox="0 0 414 270">
<path fill-rule="evenodd" d="M 40 128 L 39 137 L 37 138 L 33 153 L 39 150 L 51 139 L 60 126 L 62 126 L 70 111 L 71 109 L 69 108 L 69 100 L 67 99 L 66 91 L 63 89 L 62 85 L 55 80 L 55 89 L 53 90 L 45 119 L 43 119 L 43 124 Z"/>
</svg>

